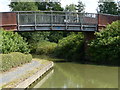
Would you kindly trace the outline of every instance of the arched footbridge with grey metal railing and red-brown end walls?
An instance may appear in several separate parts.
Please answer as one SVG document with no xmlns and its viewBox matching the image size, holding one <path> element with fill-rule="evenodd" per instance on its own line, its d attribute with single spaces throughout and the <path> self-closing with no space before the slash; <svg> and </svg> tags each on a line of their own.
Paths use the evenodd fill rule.
<svg viewBox="0 0 120 90">
<path fill-rule="evenodd" d="M 61 12 L 1 12 L 0 27 L 13 31 L 78 31 L 95 32 L 120 18 L 115 15 Z"/>
</svg>

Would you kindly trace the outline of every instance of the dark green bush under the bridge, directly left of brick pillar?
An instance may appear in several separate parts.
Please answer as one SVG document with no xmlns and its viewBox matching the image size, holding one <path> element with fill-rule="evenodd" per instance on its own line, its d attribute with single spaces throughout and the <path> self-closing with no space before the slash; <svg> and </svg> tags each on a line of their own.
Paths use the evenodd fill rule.
<svg viewBox="0 0 120 90">
<path fill-rule="evenodd" d="M 83 34 L 71 34 L 59 40 L 55 55 L 68 60 L 83 59 Z"/>
</svg>

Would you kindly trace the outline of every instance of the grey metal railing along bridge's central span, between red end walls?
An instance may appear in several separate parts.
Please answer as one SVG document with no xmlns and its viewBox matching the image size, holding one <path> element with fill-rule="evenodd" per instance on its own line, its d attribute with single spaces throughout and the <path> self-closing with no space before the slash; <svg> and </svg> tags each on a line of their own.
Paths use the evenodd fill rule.
<svg viewBox="0 0 120 90">
<path fill-rule="evenodd" d="M 48 25 L 51 29 L 55 26 L 64 26 L 65 30 L 84 29 L 85 25 L 97 28 L 98 17 L 94 13 L 78 13 L 78 12 L 60 12 L 60 11 L 22 11 L 17 12 L 18 29 L 25 26 L 31 26 L 29 29 L 38 29 L 38 26 Z M 32 27 L 33 26 L 33 27 Z M 73 26 L 71 28 L 70 26 Z M 62 27 L 63 28 L 63 27 Z M 92 29 L 93 29 L 92 28 Z M 88 28 L 89 29 L 89 28 Z M 88 30 L 86 29 L 86 30 Z"/>
</svg>

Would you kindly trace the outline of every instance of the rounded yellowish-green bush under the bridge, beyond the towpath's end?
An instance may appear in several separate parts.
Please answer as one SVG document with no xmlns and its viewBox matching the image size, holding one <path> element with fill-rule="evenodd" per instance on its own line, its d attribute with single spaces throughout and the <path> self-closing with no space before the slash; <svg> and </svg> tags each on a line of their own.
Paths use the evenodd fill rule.
<svg viewBox="0 0 120 90">
<path fill-rule="evenodd" d="M 42 55 L 42 54 L 49 55 L 54 52 L 54 49 L 57 46 L 57 44 L 49 41 L 41 41 L 41 42 L 38 42 L 36 46 L 35 45 L 33 46 L 34 47 L 32 47 L 32 51 L 34 53 L 39 55 Z"/>
</svg>

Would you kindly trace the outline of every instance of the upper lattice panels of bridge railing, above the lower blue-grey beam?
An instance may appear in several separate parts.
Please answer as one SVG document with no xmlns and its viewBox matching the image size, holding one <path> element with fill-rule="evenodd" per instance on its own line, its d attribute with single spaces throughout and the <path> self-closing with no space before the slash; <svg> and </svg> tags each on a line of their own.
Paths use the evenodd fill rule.
<svg viewBox="0 0 120 90">
<path fill-rule="evenodd" d="M 19 12 L 19 24 L 97 24 L 97 15 L 71 12 Z"/>
</svg>

